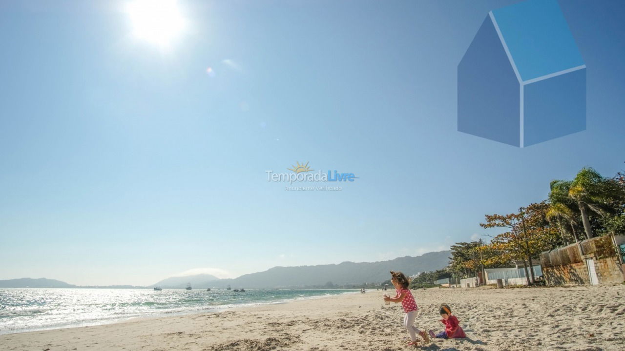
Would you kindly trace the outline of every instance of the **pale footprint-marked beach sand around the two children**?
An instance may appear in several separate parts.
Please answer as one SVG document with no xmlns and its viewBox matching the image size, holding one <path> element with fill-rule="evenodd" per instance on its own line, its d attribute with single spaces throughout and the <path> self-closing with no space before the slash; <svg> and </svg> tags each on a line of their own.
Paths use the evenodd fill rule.
<svg viewBox="0 0 625 351">
<path fill-rule="evenodd" d="M 401 305 L 382 292 L 340 295 L 217 314 L 0 335 L 2 350 L 625 350 L 625 285 L 414 292 L 415 325 L 442 330 L 451 305 L 467 339 L 407 347 Z"/>
</svg>

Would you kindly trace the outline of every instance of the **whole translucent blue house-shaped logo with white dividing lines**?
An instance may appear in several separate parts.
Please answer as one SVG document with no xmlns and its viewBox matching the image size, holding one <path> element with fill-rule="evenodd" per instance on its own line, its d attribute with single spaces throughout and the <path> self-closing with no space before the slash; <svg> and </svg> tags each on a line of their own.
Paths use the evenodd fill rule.
<svg viewBox="0 0 625 351">
<path fill-rule="evenodd" d="M 524 147 L 586 129 L 586 65 L 556 0 L 489 12 L 457 89 L 461 132 Z"/>
</svg>

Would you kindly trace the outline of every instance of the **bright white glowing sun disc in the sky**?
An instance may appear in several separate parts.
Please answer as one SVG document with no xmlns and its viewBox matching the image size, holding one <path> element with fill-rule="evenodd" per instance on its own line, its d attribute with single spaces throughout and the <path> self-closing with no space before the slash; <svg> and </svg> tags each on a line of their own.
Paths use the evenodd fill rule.
<svg viewBox="0 0 625 351">
<path fill-rule="evenodd" d="M 133 34 L 161 47 L 171 44 L 186 27 L 176 0 L 134 0 L 126 5 Z"/>
</svg>

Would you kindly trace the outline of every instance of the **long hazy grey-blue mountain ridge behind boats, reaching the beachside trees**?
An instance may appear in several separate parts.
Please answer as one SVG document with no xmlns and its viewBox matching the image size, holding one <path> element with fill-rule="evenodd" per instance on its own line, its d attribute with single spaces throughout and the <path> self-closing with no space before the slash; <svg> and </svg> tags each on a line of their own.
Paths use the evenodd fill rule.
<svg viewBox="0 0 625 351">
<path fill-rule="evenodd" d="M 399 257 L 394 260 L 379 262 L 342 262 L 341 264 L 303 265 L 298 267 L 273 267 L 264 272 L 241 275 L 236 279 L 196 279 L 198 275 L 189 277 L 173 277 L 162 280 L 152 286 L 185 287 L 191 282 L 193 287 L 224 288 L 276 288 L 276 287 L 311 287 L 323 286 L 328 282 L 334 285 L 360 285 L 363 282 L 384 282 L 391 277 L 389 271 L 399 270 L 406 275 L 442 269 L 449 264 L 450 250 L 428 252 L 421 256 Z M 214 278 L 214 277 L 213 277 Z M 166 284 L 176 279 L 178 284 Z M 174 280 L 173 280 L 174 281 Z M 196 283 L 194 283 L 194 281 Z M 163 285 L 163 286 L 161 286 Z"/>
</svg>

